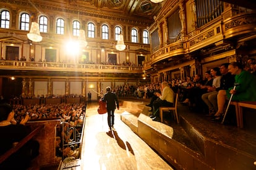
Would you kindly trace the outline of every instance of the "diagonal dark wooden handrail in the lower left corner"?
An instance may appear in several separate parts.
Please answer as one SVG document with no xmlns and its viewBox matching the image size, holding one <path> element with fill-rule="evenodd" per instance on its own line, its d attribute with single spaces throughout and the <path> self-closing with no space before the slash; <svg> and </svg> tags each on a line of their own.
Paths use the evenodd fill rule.
<svg viewBox="0 0 256 170">
<path fill-rule="evenodd" d="M 42 129 L 43 127 L 44 127 L 43 124 L 36 127 L 32 132 L 30 132 L 30 134 L 28 134 L 26 137 L 24 137 L 22 140 L 20 140 L 20 142 L 17 145 L 15 145 L 15 147 L 12 147 L 6 153 L 1 155 L 0 156 L 0 164 L 2 162 L 4 162 L 7 158 L 9 158 L 9 156 L 11 156 L 13 153 L 17 152 L 17 150 L 19 150 L 21 147 L 23 147 L 23 145 L 25 145 L 30 139 L 32 139 L 32 137 L 34 137 L 36 134 L 38 134 L 40 129 Z"/>
</svg>

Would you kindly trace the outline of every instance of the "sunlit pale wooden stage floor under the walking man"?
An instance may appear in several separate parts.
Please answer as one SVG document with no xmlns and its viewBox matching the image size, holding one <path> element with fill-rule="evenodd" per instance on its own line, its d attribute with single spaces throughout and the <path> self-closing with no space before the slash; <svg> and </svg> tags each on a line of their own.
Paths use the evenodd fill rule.
<svg viewBox="0 0 256 170">
<path fill-rule="evenodd" d="M 81 169 L 172 169 L 115 112 L 115 130 L 109 131 L 107 114 L 98 115 L 98 105 L 87 106 Z"/>
</svg>

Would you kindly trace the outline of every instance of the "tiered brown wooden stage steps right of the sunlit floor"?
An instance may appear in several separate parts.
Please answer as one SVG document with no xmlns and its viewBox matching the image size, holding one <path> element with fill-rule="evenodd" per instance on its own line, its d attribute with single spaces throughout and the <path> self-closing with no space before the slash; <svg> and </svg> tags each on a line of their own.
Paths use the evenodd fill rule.
<svg viewBox="0 0 256 170">
<path fill-rule="evenodd" d="M 254 135 L 233 125 L 213 123 L 186 106 L 178 105 L 180 124 L 168 112 L 163 114 L 163 123 L 151 121 L 148 109 L 135 115 L 126 111 L 121 119 L 177 169 L 255 168 Z"/>
</svg>

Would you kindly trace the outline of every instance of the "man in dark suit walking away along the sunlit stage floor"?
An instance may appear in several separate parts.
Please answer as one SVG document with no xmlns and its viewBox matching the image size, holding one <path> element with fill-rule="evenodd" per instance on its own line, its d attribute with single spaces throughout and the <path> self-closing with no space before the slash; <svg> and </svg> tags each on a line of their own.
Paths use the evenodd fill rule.
<svg viewBox="0 0 256 170">
<path fill-rule="evenodd" d="M 109 129 L 114 127 L 114 110 L 117 107 L 119 110 L 119 102 L 114 92 L 111 92 L 111 87 L 106 87 L 106 94 L 104 94 L 103 102 L 106 102 L 108 110 L 108 126 Z"/>
</svg>

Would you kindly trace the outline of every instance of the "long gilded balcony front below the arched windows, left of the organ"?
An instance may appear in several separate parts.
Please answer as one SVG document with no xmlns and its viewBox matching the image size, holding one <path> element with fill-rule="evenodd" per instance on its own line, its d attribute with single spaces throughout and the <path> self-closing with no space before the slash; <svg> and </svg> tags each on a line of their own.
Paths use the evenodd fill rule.
<svg viewBox="0 0 256 170">
<path fill-rule="evenodd" d="M 106 73 L 142 73 L 142 67 L 126 65 L 101 65 L 61 62 L 26 62 L 17 60 L 0 60 L 0 69 L 5 70 L 49 70 L 49 71 L 87 71 Z"/>
</svg>

